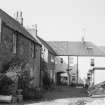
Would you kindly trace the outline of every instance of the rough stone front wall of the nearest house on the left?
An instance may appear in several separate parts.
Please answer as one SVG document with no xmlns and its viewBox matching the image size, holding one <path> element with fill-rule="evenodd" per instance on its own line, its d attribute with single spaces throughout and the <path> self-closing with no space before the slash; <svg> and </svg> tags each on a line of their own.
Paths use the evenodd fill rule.
<svg viewBox="0 0 105 105">
<path fill-rule="evenodd" d="M 13 34 L 16 34 L 16 53 L 13 53 Z M 0 71 L 3 70 L 3 65 L 8 63 L 15 55 L 28 59 L 27 69 L 30 75 L 33 74 L 34 87 L 39 87 L 40 82 L 40 46 L 35 44 L 35 56 L 32 57 L 31 44 L 35 44 L 30 39 L 23 36 L 21 33 L 9 28 L 5 23 L 2 23 L 1 43 L 0 43 Z"/>
</svg>

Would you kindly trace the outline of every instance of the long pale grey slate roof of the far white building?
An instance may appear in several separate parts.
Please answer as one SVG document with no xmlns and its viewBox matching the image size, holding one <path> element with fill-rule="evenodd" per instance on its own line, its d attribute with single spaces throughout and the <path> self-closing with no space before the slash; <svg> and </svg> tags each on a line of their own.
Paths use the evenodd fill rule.
<svg viewBox="0 0 105 105">
<path fill-rule="evenodd" d="M 70 56 L 105 56 L 100 47 L 85 41 L 47 41 L 57 55 Z"/>
</svg>

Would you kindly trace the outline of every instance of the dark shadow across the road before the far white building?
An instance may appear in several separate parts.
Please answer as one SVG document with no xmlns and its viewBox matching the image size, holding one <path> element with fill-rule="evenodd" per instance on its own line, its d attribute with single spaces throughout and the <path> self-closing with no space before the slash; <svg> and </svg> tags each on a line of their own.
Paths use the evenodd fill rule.
<svg viewBox="0 0 105 105">
<path fill-rule="evenodd" d="M 88 97 L 87 90 L 85 88 L 56 88 L 52 91 L 47 91 L 43 95 L 42 100 L 56 100 L 56 99 L 64 99 L 64 98 L 81 98 Z"/>
</svg>

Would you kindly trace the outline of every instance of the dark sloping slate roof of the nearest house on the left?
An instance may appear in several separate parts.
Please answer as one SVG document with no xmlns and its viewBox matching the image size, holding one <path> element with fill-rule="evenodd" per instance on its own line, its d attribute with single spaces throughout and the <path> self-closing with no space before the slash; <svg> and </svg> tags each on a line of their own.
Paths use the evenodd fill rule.
<svg viewBox="0 0 105 105">
<path fill-rule="evenodd" d="M 19 33 L 21 33 L 22 35 L 24 35 L 28 39 L 30 39 L 30 40 L 34 41 L 35 43 L 39 44 L 37 42 L 37 40 L 31 34 L 29 34 L 29 32 L 18 21 L 16 21 L 14 18 L 9 16 L 6 12 L 4 12 L 1 9 L 0 9 L 0 18 L 11 29 L 13 29 L 15 31 L 18 31 Z"/>
</svg>

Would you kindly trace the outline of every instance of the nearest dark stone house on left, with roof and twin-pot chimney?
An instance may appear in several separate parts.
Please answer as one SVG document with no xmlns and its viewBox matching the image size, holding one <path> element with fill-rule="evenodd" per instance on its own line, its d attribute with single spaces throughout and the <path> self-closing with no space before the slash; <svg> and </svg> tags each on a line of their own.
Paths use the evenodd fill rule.
<svg viewBox="0 0 105 105">
<path fill-rule="evenodd" d="M 22 13 L 17 13 L 16 19 L 0 9 L 0 72 L 14 57 L 27 59 L 26 69 L 33 78 L 31 84 L 39 87 L 41 45 L 23 27 Z"/>
</svg>

